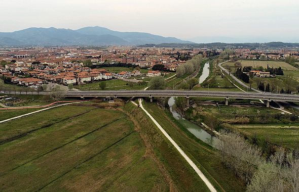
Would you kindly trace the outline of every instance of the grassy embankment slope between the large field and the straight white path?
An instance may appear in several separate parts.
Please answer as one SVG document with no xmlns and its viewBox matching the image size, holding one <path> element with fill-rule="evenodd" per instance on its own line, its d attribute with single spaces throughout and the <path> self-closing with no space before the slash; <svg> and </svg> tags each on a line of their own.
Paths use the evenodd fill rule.
<svg viewBox="0 0 299 192">
<path fill-rule="evenodd" d="M 168 182 L 171 183 L 171 189 L 209 191 L 193 168 L 181 157 L 141 108 L 136 108 L 130 103 L 125 106 L 124 110 L 129 113 L 131 118 L 135 119 L 135 123 L 139 127 L 139 134 L 148 148 L 148 155 L 157 157 L 156 161 L 165 177 L 168 178 Z"/>
</svg>

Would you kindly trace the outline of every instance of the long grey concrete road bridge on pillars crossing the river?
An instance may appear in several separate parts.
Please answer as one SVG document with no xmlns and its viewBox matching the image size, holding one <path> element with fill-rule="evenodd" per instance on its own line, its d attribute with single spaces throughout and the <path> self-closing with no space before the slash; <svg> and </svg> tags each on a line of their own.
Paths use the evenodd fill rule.
<svg viewBox="0 0 299 192">
<path fill-rule="evenodd" d="M 65 97 L 92 98 L 92 97 L 148 97 L 153 102 L 154 97 L 184 97 L 187 104 L 190 98 L 223 98 L 226 105 L 230 99 L 262 100 L 269 107 L 271 101 L 299 102 L 296 94 L 275 94 L 264 92 L 223 92 L 223 91 L 194 91 L 194 90 L 106 90 L 106 91 L 67 91 Z"/>
</svg>

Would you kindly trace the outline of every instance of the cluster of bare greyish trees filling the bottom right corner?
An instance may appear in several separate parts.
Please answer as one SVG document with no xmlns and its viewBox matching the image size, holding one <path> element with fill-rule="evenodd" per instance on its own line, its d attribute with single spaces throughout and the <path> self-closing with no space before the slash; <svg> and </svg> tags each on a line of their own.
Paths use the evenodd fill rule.
<svg viewBox="0 0 299 192">
<path fill-rule="evenodd" d="M 265 159 L 239 133 L 223 130 L 217 146 L 222 162 L 247 182 L 247 191 L 299 191 L 299 152 L 279 147 Z"/>
</svg>

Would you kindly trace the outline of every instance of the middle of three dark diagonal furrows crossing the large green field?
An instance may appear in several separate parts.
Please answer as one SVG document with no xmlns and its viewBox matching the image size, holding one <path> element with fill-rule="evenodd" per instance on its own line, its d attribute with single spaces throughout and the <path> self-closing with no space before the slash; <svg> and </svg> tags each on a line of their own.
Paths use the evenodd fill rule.
<svg viewBox="0 0 299 192">
<path fill-rule="evenodd" d="M 89 112 L 90 112 L 90 111 L 89 111 Z M 17 167 L 15 167 L 15 168 L 9 170 L 7 173 L 2 174 L 2 175 L 0 175 L 0 176 L 4 176 L 4 175 L 8 174 L 10 171 L 13 171 L 13 170 L 15 170 L 15 169 L 17 169 L 17 168 L 19 168 L 19 167 L 21 167 L 21 166 L 24 166 L 24 165 L 27 164 L 27 163 L 30 163 L 30 162 L 32 162 L 32 161 L 34 161 L 34 160 L 36 160 L 36 159 L 39 159 L 39 158 L 41 158 L 41 157 L 43 157 L 43 156 L 45 156 L 45 155 L 47 155 L 47 154 L 50 154 L 50 153 L 52 153 L 52 152 L 54 152 L 54 151 L 56 151 L 56 150 L 58 150 L 58 149 L 60 149 L 60 148 L 62 148 L 62 147 L 64 147 L 64 146 L 66 146 L 66 145 L 68 145 L 68 144 L 70 144 L 70 143 L 72 143 L 72 142 L 74 142 L 74 141 L 76 141 L 76 140 L 78 140 L 78 139 L 81 139 L 81 138 L 83 138 L 83 137 L 86 137 L 86 136 L 88 136 L 88 135 L 94 133 L 95 131 L 98 131 L 98 130 L 100 130 L 100 129 L 102 129 L 102 128 L 104 128 L 104 127 L 106 127 L 106 126 L 108 126 L 108 125 L 110 125 L 110 124 L 112 124 L 112 123 L 115 123 L 115 122 L 117 122 L 117 121 L 119 121 L 119 120 L 121 120 L 121 119 L 123 119 L 123 118 L 125 118 L 125 117 L 120 117 L 119 119 L 116 119 L 116 120 L 113 120 L 113 121 L 111 121 L 111 122 L 105 123 L 104 125 L 102 125 L 102 126 L 96 128 L 96 129 L 93 129 L 93 130 L 91 130 L 91 131 L 89 131 L 89 132 L 87 132 L 87 133 L 85 133 L 85 134 L 83 134 L 83 135 L 81 135 L 81 136 L 79 136 L 79 137 L 76 137 L 76 138 L 74 138 L 74 139 L 72 139 L 72 140 L 70 140 L 70 141 L 68 141 L 68 142 L 66 142 L 66 143 L 63 143 L 61 146 L 58 146 L 58 147 L 56 147 L 56 148 L 53 148 L 53 149 L 50 150 L 50 151 L 47 151 L 47 152 L 45 152 L 45 153 L 43 153 L 43 154 L 40 154 L 39 156 L 36 156 L 36 157 L 34 157 L 33 159 L 30 159 L 29 161 L 24 162 L 23 164 L 18 165 Z"/>
</svg>

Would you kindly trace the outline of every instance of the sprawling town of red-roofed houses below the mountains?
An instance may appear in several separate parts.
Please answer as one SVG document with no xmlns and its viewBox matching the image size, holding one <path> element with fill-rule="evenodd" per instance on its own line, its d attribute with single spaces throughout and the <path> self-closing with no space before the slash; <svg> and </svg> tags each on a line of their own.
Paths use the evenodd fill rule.
<svg viewBox="0 0 299 192">
<path fill-rule="evenodd" d="M 286 61 L 291 57 L 290 62 L 294 66 L 297 66 L 296 61 L 299 61 L 299 51 L 287 49 L 224 50 L 123 46 L 110 46 L 102 50 L 80 47 L 2 48 L 0 75 L 9 79 L 10 83 L 35 89 L 49 83 L 78 85 L 110 79 L 139 82 L 142 78 L 138 76 L 154 77 L 175 72 L 178 66 L 197 54 L 202 54 L 203 57 L 219 55 L 223 59 L 235 61 Z M 163 67 L 159 68 L 160 71 L 152 70 L 155 65 Z M 114 66 L 122 67 L 123 71 L 115 73 L 105 69 Z M 142 73 L 140 69 L 143 69 Z M 250 70 L 250 73 L 270 77 L 270 72 L 263 72 L 263 69 Z"/>
</svg>

